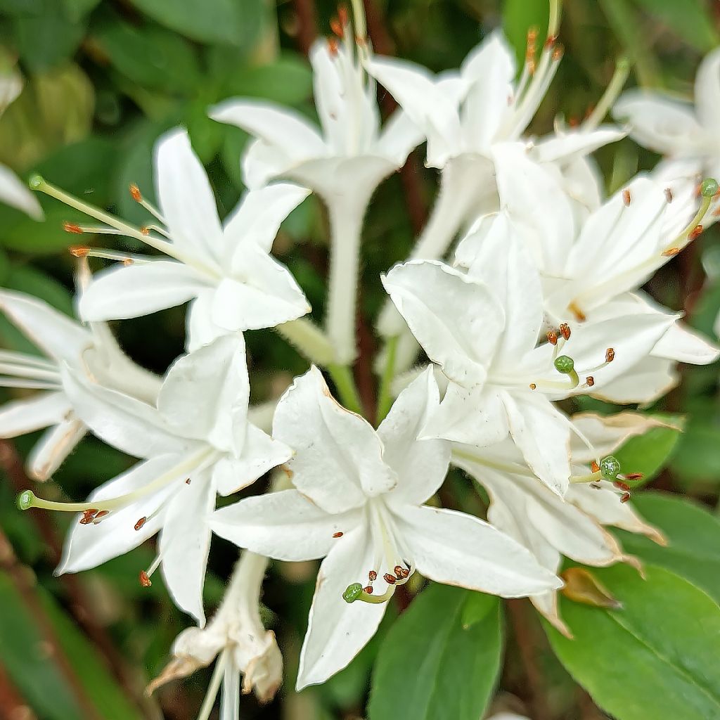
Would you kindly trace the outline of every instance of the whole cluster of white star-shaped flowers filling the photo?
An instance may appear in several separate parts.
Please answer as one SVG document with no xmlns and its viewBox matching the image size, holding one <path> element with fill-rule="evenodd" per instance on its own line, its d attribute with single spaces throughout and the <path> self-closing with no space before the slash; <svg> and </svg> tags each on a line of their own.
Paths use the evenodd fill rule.
<svg viewBox="0 0 720 720">
<path fill-rule="evenodd" d="M 639 141 L 682 163 L 605 198 L 588 153 L 628 132 L 600 125 L 627 73 L 622 63 L 582 125 L 526 134 L 562 58 L 557 1 L 546 37 L 528 35 L 520 73 L 500 32 L 459 71 L 433 76 L 374 56 L 359 15 L 351 27 L 341 14 L 334 27 L 338 37 L 310 55 L 320 127 L 250 99 L 210 109 L 255 138 L 242 158 L 248 190 L 225 220 L 189 136 L 172 130 L 156 146 L 159 207 L 130 189 L 148 211 L 144 227 L 39 176 L 30 181 L 99 222 L 68 224 L 69 232 L 124 235 L 148 248 L 73 248 L 77 322 L 35 298 L 0 293 L 0 310 L 45 354 L 0 353 L 0 384 L 38 391 L 0 409 L 0 436 L 48 428 L 30 457 L 32 477 L 47 480 L 88 431 L 138 458 L 84 502 L 27 490 L 19 505 L 76 513 L 58 572 L 94 567 L 159 534 L 140 582 L 150 585 L 159 568 L 198 625 L 179 636 L 160 681 L 217 656 L 203 718 L 221 684 L 222 717 L 238 716 L 240 675 L 243 692 L 263 700 L 282 681 L 274 635 L 258 614 L 268 559 L 322 559 L 299 688 L 348 665 L 388 601 L 420 576 L 527 596 L 569 634 L 557 606 L 562 556 L 636 562 L 605 526 L 664 542 L 626 502 L 635 476 L 613 456 L 659 421 L 572 414 L 573 399 L 644 405 L 677 382 L 678 362 L 707 364 L 720 353 L 641 289 L 714 212 L 718 185 L 703 176 L 718 153 L 699 124 L 720 102 L 720 55 L 698 76 L 699 120 L 658 99 L 616 104 Z M 383 125 L 376 82 L 400 106 Z M 384 348 L 374 427 L 350 370 L 362 225 L 374 191 L 422 141 L 441 177 L 431 219 L 407 261 L 366 279 L 382 281 L 388 296 L 377 321 Z M 272 255 L 281 223 L 310 193 L 327 207 L 331 230 L 323 327 Z M 112 264 L 91 273 L 94 258 Z M 184 303 L 186 354 L 162 378 L 125 356 L 106 324 Z M 275 328 L 310 361 L 271 422 L 250 405 L 243 333 L 261 328 Z M 487 491 L 487 521 L 441 507 L 451 465 Z M 284 478 L 277 473 L 269 492 L 215 510 L 217 495 L 276 467 Z M 205 625 L 213 534 L 245 553 Z"/>
</svg>

